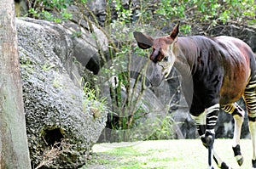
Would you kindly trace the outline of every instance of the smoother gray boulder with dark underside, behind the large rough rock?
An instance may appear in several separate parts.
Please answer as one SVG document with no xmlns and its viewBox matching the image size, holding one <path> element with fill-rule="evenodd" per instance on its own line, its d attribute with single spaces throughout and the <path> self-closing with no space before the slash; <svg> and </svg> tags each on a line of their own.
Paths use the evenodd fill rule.
<svg viewBox="0 0 256 169">
<path fill-rule="evenodd" d="M 75 9 L 73 7 L 73 10 Z M 75 15 L 73 18 L 73 20 L 82 20 L 77 19 Z M 91 34 L 88 31 L 90 28 L 85 20 L 80 21 L 80 25 L 82 26 L 76 23 L 79 23 L 79 21 L 65 22 L 67 33 L 72 37 L 73 41 L 73 57 L 88 70 L 97 74 L 101 66 L 108 59 L 108 38 L 96 25 L 92 25 L 94 34 Z M 77 32 L 79 32 L 79 36 L 74 36 Z"/>
</svg>

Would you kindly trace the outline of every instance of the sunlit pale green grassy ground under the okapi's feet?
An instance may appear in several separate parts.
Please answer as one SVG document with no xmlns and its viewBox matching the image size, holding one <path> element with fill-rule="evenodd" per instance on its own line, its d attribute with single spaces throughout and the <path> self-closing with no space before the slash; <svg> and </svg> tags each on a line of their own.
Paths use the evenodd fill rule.
<svg viewBox="0 0 256 169">
<path fill-rule="evenodd" d="M 252 168 L 251 140 L 241 140 L 241 153 L 244 156 L 242 166 L 237 165 L 231 146 L 230 139 L 216 139 L 214 149 L 233 169 Z M 199 139 L 96 144 L 93 152 L 92 160 L 83 169 L 207 168 L 207 149 L 202 146 Z M 218 166 L 215 165 L 215 168 Z"/>
</svg>

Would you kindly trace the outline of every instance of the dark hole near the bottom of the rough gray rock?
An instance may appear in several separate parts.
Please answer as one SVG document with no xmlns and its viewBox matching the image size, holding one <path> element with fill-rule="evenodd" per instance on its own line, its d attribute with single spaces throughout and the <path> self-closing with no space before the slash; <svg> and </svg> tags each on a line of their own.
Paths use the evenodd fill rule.
<svg viewBox="0 0 256 169">
<path fill-rule="evenodd" d="M 64 138 L 61 133 L 61 128 L 46 129 L 44 135 L 44 140 L 48 145 L 53 146 L 55 143 L 61 143 L 61 139 Z"/>
</svg>

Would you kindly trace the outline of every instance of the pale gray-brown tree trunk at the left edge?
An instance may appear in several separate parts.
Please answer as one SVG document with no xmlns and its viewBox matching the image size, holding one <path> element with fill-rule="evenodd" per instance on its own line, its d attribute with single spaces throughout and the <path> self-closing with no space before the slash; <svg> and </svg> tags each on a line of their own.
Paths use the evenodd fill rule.
<svg viewBox="0 0 256 169">
<path fill-rule="evenodd" d="M 0 1 L 0 169 L 29 169 L 15 3 Z"/>
</svg>

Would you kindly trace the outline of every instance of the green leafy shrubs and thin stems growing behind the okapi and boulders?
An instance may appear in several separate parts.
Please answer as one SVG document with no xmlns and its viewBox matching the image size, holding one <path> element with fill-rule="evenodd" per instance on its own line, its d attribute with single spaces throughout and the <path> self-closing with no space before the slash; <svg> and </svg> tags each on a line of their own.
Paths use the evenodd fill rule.
<svg viewBox="0 0 256 169">
<path fill-rule="evenodd" d="M 178 20 L 182 23 L 181 34 L 185 36 L 194 33 L 207 35 L 207 31 L 219 25 L 256 25 L 256 5 L 253 0 L 108 0 L 104 2 L 104 11 L 102 16 L 99 16 L 96 10 L 91 8 L 93 2 L 90 0 L 32 0 L 28 4 L 28 16 L 64 23 L 67 20 L 77 22 L 73 20 L 73 16 L 79 13 L 88 23 L 92 35 L 95 31 L 92 25 L 95 25 L 108 37 L 110 42 L 108 56 L 102 53 L 101 48 L 99 54 L 103 62 L 102 66 L 109 60 L 111 64 L 107 67 L 103 66 L 102 74 L 98 78 L 108 77 L 106 82 L 108 82 L 113 110 L 113 114 L 108 118 L 110 120 L 108 127 L 116 129 L 118 137 L 115 141 L 130 140 L 131 133 L 127 132 L 137 127 L 137 121 L 148 111 L 143 107 L 142 100 L 143 92 L 147 89 L 146 79 L 143 76 L 147 65 L 144 65 L 141 73 L 137 72 L 136 76 L 131 76 L 130 67 L 132 54 L 145 56 L 147 53 L 135 48 L 132 31 L 143 30 L 155 34 L 158 30 L 169 33 Z M 68 10 L 73 5 L 78 11 Z M 80 33 L 80 31 L 73 32 L 73 35 L 79 37 Z M 131 79 L 134 79 L 132 84 Z M 87 93 L 93 91 L 95 94 L 96 97 L 91 96 L 89 92 L 90 99 L 99 99 L 101 97 L 99 90 L 100 87 L 92 90 L 84 88 L 85 94 L 86 91 Z M 134 94 L 135 91 L 138 94 Z M 104 103 L 106 101 L 106 99 L 99 100 L 104 100 Z M 172 138 L 173 132 L 170 127 L 172 122 L 172 118 L 166 114 L 166 120 L 162 121 L 158 126 L 160 128 L 155 130 L 155 134 L 150 138 Z"/>
</svg>

